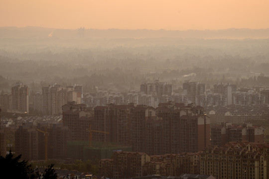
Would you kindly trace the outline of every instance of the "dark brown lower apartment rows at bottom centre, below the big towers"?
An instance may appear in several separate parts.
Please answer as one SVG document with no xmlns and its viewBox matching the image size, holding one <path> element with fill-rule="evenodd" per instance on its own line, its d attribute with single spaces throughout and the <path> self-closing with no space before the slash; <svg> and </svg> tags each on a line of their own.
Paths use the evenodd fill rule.
<svg viewBox="0 0 269 179">
<path fill-rule="evenodd" d="M 111 159 L 99 161 L 99 174 L 113 179 L 148 175 L 180 176 L 199 174 L 199 153 L 149 156 L 143 152 L 115 152 Z"/>
</svg>

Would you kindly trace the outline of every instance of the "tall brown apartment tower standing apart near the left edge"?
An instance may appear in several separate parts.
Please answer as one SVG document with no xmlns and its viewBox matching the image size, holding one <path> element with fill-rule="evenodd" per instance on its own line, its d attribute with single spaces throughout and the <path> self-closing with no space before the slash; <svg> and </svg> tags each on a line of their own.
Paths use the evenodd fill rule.
<svg viewBox="0 0 269 179">
<path fill-rule="evenodd" d="M 16 85 L 11 88 L 11 94 L 12 110 L 29 112 L 28 87 L 26 85 L 16 83 Z"/>
</svg>

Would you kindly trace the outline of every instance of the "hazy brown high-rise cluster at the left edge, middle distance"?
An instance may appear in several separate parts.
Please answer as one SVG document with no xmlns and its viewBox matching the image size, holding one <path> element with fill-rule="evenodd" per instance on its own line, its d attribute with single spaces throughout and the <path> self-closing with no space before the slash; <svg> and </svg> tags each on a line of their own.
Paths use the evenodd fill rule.
<svg viewBox="0 0 269 179">
<path fill-rule="evenodd" d="M 42 93 L 31 92 L 22 84 L 15 84 L 11 92 L 1 92 L 0 106 L 4 112 L 28 113 L 29 106 L 34 110 L 42 112 L 43 115 L 60 115 L 62 105 L 68 101 L 81 103 L 82 86 L 75 85 L 64 88 L 62 85 L 49 85 L 42 88 Z"/>
</svg>

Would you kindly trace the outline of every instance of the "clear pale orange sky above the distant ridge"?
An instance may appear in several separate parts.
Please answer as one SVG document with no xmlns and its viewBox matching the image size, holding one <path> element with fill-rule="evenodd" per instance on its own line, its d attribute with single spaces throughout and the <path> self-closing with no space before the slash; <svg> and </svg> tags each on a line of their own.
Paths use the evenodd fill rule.
<svg viewBox="0 0 269 179">
<path fill-rule="evenodd" d="M 0 0 L 0 26 L 269 28 L 269 0 Z"/>
</svg>

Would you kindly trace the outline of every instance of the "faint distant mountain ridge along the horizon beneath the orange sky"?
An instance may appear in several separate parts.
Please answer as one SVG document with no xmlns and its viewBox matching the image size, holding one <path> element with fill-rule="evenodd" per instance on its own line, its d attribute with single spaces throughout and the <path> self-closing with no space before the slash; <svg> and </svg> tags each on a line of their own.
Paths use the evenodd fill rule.
<svg viewBox="0 0 269 179">
<path fill-rule="evenodd" d="M 148 29 L 53 29 L 44 27 L 0 27 L 0 38 L 269 38 L 269 28 L 230 28 L 223 30 L 148 30 Z"/>
</svg>

